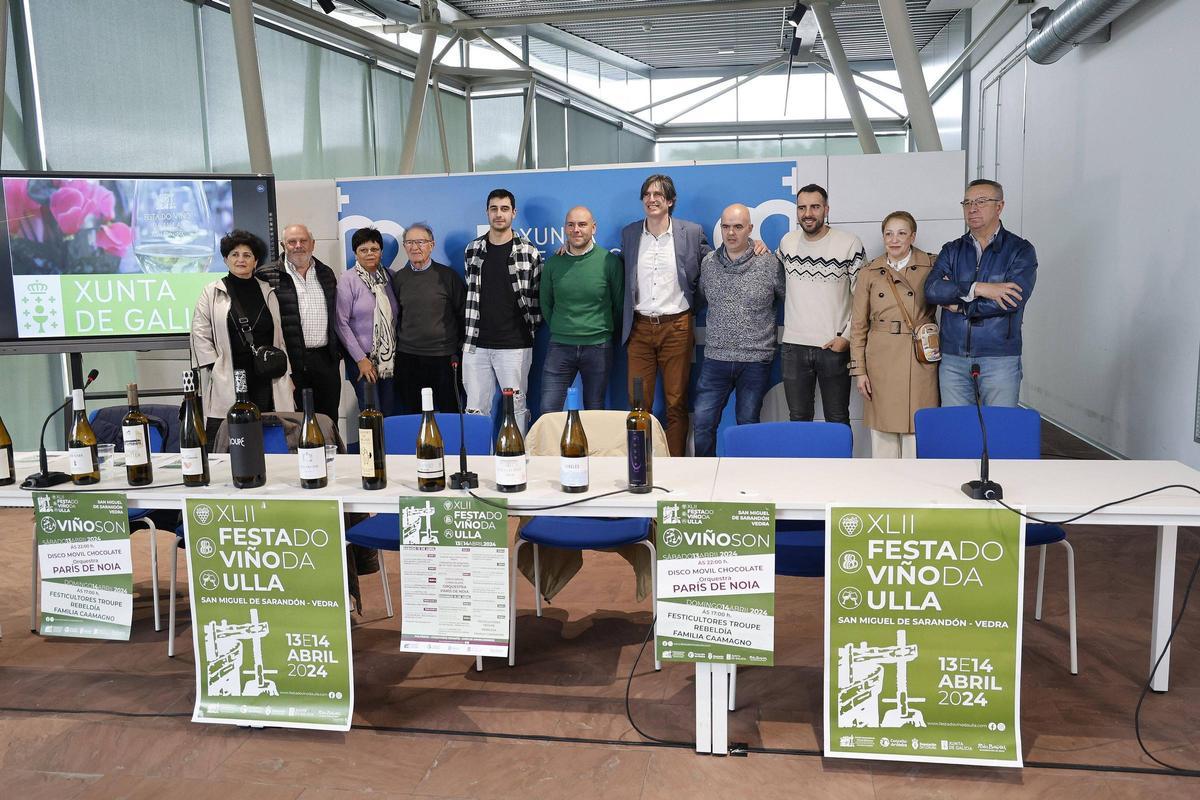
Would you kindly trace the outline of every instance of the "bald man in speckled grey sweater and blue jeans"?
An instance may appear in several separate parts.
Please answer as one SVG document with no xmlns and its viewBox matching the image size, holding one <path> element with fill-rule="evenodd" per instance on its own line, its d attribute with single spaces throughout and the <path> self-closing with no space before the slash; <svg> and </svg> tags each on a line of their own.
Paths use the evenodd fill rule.
<svg viewBox="0 0 1200 800">
<path fill-rule="evenodd" d="M 716 426 L 737 392 L 738 425 L 758 421 L 775 360 L 776 303 L 784 297 L 784 267 L 773 253 L 755 255 L 750 210 L 721 212 L 722 245 L 700 266 L 700 294 L 708 301 L 704 361 L 696 384 L 695 451 L 716 455 Z"/>
</svg>

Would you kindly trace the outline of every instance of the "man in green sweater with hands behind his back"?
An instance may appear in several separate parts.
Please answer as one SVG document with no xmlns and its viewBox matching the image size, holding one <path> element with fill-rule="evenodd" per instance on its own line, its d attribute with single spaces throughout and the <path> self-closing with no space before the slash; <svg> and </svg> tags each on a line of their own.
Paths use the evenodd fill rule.
<svg viewBox="0 0 1200 800">
<path fill-rule="evenodd" d="M 541 314 L 550 349 L 541 377 L 542 413 L 560 411 L 575 375 L 583 375 L 583 408 L 602 409 L 612 371 L 612 341 L 622 319 L 625 273 L 620 259 L 595 243 L 596 223 L 582 205 L 566 212 L 566 249 L 541 271 Z"/>
</svg>

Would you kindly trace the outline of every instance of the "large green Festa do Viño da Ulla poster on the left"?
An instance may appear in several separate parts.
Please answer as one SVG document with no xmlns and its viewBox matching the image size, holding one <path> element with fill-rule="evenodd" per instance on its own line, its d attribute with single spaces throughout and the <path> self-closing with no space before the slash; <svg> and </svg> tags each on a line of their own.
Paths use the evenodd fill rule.
<svg viewBox="0 0 1200 800">
<path fill-rule="evenodd" d="M 341 500 L 184 505 L 194 722 L 348 730 L 354 662 Z"/>
</svg>

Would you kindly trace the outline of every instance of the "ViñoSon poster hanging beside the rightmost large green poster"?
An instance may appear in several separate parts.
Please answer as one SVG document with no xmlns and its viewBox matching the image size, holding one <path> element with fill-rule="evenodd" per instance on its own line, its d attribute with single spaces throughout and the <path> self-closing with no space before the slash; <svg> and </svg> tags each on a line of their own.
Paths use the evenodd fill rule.
<svg viewBox="0 0 1200 800">
<path fill-rule="evenodd" d="M 659 501 L 660 661 L 773 666 L 775 506 Z"/>
</svg>

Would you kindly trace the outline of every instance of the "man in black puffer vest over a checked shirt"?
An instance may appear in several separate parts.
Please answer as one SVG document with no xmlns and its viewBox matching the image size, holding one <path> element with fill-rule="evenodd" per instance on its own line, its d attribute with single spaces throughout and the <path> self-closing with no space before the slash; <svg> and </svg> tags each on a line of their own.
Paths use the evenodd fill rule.
<svg viewBox="0 0 1200 800">
<path fill-rule="evenodd" d="M 336 425 L 342 404 L 341 348 L 334 330 L 337 277 L 313 258 L 314 246 L 307 227 L 288 225 L 283 229 L 287 255 L 259 266 L 256 275 L 271 284 L 280 301 L 296 408 L 301 390 L 312 389 L 316 411 Z"/>
</svg>

